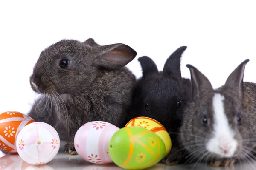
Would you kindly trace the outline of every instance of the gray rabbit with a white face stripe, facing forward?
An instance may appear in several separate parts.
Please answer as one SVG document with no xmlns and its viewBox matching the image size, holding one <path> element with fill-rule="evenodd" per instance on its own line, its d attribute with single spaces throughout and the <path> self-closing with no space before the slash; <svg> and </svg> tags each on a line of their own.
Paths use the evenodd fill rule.
<svg viewBox="0 0 256 170">
<path fill-rule="evenodd" d="M 192 102 L 185 108 L 180 146 L 173 148 L 166 164 L 208 162 L 231 166 L 251 161 L 256 145 L 256 84 L 243 82 L 242 62 L 225 85 L 213 89 L 197 68 L 187 65 L 192 81 Z"/>
</svg>

